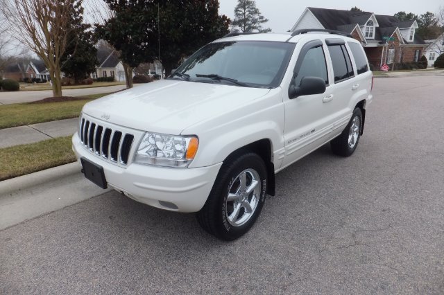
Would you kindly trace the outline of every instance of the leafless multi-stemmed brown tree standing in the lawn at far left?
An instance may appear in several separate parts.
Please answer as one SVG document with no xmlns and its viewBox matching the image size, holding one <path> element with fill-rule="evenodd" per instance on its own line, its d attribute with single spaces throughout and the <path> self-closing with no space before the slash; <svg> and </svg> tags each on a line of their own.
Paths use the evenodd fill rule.
<svg viewBox="0 0 444 295">
<path fill-rule="evenodd" d="M 13 36 L 43 60 L 53 82 L 53 96 L 62 96 L 60 59 L 74 1 L 4 0 L 2 8 Z"/>
</svg>

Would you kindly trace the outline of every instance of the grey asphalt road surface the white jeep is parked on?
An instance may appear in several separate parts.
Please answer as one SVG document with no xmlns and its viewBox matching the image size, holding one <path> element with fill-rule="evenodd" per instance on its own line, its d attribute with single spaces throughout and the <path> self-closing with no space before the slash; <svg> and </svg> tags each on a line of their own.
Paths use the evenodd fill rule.
<svg viewBox="0 0 444 295">
<path fill-rule="evenodd" d="M 0 293 L 443 294 L 443 82 L 375 79 L 355 154 L 280 172 L 237 241 L 114 192 L 0 231 Z"/>
</svg>

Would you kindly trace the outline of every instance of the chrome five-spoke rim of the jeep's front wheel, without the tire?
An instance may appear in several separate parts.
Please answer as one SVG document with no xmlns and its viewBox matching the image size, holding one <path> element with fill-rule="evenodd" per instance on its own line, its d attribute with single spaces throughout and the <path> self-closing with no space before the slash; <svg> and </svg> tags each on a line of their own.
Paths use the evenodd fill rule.
<svg viewBox="0 0 444 295">
<path fill-rule="evenodd" d="M 248 222 L 255 213 L 260 196 L 259 173 L 250 168 L 239 173 L 228 188 L 225 202 L 228 222 L 232 226 L 241 226 Z"/>
</svg>

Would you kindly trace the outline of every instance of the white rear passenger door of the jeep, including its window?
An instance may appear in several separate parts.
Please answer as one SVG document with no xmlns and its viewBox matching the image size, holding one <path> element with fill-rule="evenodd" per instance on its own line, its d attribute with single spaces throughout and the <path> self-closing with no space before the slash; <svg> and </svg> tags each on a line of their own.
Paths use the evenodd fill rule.
<svg viewBox="0 0 444 295">
<path fill-rule="evenodd" d="M 330 75 L 332 98 L 328 102 L 330 104 L 329 109 L 332 112 L 331 128 L 334 134 L 337 135 L 342 132 L 343 127 L 350 120 L 352 115 L 350 101 L 359 84 L 355 82 L 355 71 L 345 41 L 339 38 L 330 38 L 325 39 L 325 43 L 330 55 L 332 70 Z"/>
</svg>

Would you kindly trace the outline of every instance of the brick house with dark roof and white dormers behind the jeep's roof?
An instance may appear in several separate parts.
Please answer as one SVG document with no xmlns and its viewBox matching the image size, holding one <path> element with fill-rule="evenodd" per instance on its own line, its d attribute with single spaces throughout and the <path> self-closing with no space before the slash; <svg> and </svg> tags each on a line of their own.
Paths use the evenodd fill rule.
<svg viewBox="0 0 444 295">
<path fill-rule="evenodd" d="M 428 44 L 416 36 L 416 20 L 399 21 L 373 12 L 305 8 L 291 31 L 303 28 L 339 30 L 361 42 L 368 62 L 379 69 L 397 62 L 418 62 Z"/>
</svg>

